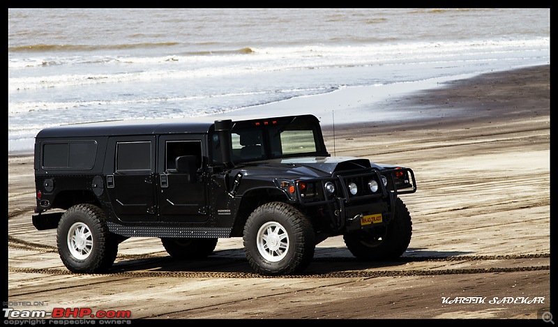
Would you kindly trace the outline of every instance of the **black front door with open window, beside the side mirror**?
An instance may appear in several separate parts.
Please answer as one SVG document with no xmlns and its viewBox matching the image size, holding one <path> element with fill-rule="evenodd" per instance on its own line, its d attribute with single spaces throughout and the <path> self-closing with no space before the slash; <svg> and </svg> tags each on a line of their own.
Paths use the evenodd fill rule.
<svg viewBox="0 0 558 327">
<path fill-rule="evenodd" d="M 205 222 L 209 218 L 204 135 L 161 135 L 158 140 L 158 206 L 164 222 Z M 176 171 L 176 158 L 196 157 L 195 172 Z"/>
</svg>

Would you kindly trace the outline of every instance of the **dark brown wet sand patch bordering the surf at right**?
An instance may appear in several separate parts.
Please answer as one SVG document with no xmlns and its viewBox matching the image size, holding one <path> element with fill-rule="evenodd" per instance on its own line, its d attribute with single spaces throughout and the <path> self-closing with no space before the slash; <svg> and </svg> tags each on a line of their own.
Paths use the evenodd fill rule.
<svg viewBox="0 0 558 327">
<path fill-rule="evenodd" d="M 446 127 L 474 124 L 479 119 L 492 123 L 531 119 L 550 114 L 550 64 L 452 79 L 378 105 L 383 110 L 400 112 L 402 118 L 336 124 L 336 128 L 373 125 L 408 130 L 442 123 Z M 536 106 L 541 109 L 535 109 Z"/>
</svg>

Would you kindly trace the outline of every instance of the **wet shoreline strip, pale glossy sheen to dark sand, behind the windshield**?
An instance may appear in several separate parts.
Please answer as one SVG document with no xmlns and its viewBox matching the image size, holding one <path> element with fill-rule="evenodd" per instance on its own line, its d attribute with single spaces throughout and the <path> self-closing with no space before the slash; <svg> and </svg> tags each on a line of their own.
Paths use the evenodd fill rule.
<svg viewBox="0 0 558 327">
<path fill-rule="evenodd" d="M 499 70 L 455 79 L 441 77 L 427 81 L 381 86 L 352 86 L 333 92 L 303 96 L 229 112 L 225 116 L 289 116 L 314 114 L 322 128 L 332 126 L 393 126 L 412 128 L 416 121 L 432 123 L 474 116 L 498 116 L 503 102 L 536 96 L 545 98 L 550 88 L 550 64 Z M 525 94 L 521 87 L 538 94 Z M 542 86 L 542 87 L 541 87 Z M 503 89 L 506 88 L 506 89 Z M 493 89 L 499 92 L 493 92 Z M 484 112 L 489 108 L 497 112 Z M 528 110 L 523 114 L 529 115 Z M 214 115 L 218 116 L 218 115 Z M 358 118 L 355 118 L 358 117 Z"/>
</svg>

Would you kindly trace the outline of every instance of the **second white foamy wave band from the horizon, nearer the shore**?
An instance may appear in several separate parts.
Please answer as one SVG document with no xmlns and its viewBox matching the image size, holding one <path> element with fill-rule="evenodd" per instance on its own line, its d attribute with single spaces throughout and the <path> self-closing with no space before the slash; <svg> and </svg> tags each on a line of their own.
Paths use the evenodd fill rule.
<svg viewBox="0 0 558 327">
<path fill-rule="evenodd" d="M 224 56 L 220 60 L 206 57 L 204 59 L 189 59 L 184 56 L 165 57 L 128 57 L 114 59 L 108 66 L 103 61 L 103 67 L 83 68 L 80 74 L 40 75 L 38 77 L 17 77 L 17 74 L 8 71 L 8 92 L 20 92 L 33 89 L 53 89 L 68 86 L 92 86 L 100 84 L 116 84 L 127 82 L 156 82 L 156 81 L 181 81 L 183 84 L 197 83 L 198 79 L 232 77 L 248 77 L 257 73 L 287 72 L 292 70 L 317 70 L 332 68 L 356 68 L 398 65 L 416 66 L 424 63 L 459 65 L 470 61 L 508 61 L 518 58 L 550 60 L 550 47 L 540 47 L 528 43 L 502 47 L 500 45 L 475 43 L 465 47 L 448 47 L 438 44 L 415 45 L 413 51 L 400 51 L 396 47 L 382 48 L 363 56 L 363 52 L 345 49 L 334 54 L 327 53 L 327 49 L 310 47 L 300 50 L 303 53 L 293 54 L 288 50 L 252 49 L 255 54 L 265 53 L 258 58 L 242 59 L 233 56 Z M 39 59 L 25 61 L 22 65 L 40 65 Z M 56 63 L 61 65 L 60 63 Z M 91 63 L 95 66 L 94 63 Z M 127 66 L 127 65 L 133 66 Z M 137 68 L 135 68 L 137 64 Z M 124 65 L 124 66 L 122 66 Z M 10 63 L 10 66 L 17 66 Z M 70 67 L 68 70 L 75 70 Z M 97 71 L 105 70 L 107 73 L 98 74 Z M 56 72 L 64 72 L 59 68 Z M 124 71 L 124 72 L 123 72 Z"/>
</svg>

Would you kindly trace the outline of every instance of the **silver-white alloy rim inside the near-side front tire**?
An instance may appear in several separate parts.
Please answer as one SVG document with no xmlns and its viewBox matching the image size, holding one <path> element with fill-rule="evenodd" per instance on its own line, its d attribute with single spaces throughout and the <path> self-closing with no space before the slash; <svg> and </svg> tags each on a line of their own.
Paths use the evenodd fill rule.
<svg viewBox="0 0 558 327">
<path fill-rule="evenodd" d="M 257 231 L 257 250 L 264 259 L 277 262 L 289 251 L 289 235 L 278 222 L 266 222 Z"/>
</svg>

